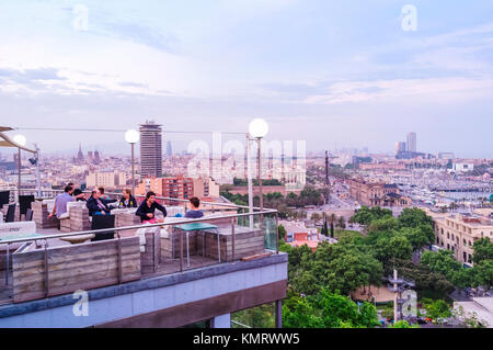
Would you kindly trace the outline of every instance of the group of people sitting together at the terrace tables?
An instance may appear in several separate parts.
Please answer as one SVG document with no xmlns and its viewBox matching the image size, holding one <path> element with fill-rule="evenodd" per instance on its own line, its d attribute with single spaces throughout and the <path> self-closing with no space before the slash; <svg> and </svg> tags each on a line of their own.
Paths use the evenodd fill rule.
<svg viewBox="0 0 493 350">
<path fill-rule="evenodd" d="M 125 189 L 123 191 L 122 199 L 112 200 L 104 194 L 104 188 L 98 188 L 92 190 L 91 196 L 85 200 L 84 193 L 74 188 L 73 183 L 66 185 L 64 193 L 57 195 L 55 199 L 55 205 L 49 217 L 56 215 L 60 218 L 61 215 L 67 213 L 67 204 L 73 201 L 85 201 L 85 205 L 89 210 L 89 216 L 95 215 L 111 215 L 111 211 L 114 208 L 131 208 L 137 207 L 135 215 L 140 217 L 142 224 L 157 224 L 159 221 L 156 218 L 156 210 L 162 212 L 163 217 L 167 217 L 167 208 L 156 201 L 156 193 L 149 191 L 146 194 L 146 199 L 138 205 L 137 200 L 131 195 L 131 191 Z M 117 206 L 110 204 L 118 202 Z M 192 197 L 190 200 L 191 210 L 185 213 L 186 218 L 200 218 L 204 216 L 204 212 L 199 210 L 200 200 L 198 197 Z"/>
</svg>

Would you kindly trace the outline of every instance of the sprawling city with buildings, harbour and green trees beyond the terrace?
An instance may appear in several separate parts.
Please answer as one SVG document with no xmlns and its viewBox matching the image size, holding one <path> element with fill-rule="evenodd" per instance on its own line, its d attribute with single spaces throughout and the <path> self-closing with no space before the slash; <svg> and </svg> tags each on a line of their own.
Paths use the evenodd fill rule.
<svg viewBox="0 0 493 350">
<path fill-rule="evenodd" d="M 153 121 L 139 126 L 134 183 L 128 171 L 131 157 L 106 155 L 104 149 L 84 153 L 80 145 L 72 157 L 39 157 L 39 181 L 36 162 L 21 154 L 21 189 L 48 197 L 69 182 L 82 191 L 104 188 L 119 195 L 134 187 L 137 196 L 153 191 L 159 197 L 186 201 L 195 196 L 219 205 L 249 205 L 246 162 L 228 161 L 238 160 L 234 154 L 222 155 L 220 160 L 211 156 L 198 176 L 191 174 L 195 155 L 174 154 L 170 142 L 163 153 L 165 133 L 161 127 Z M 262 171 L 254 169 L 253 173 L 262 174 L 263 207 L 277 210 L 279 250 L 289 255 L 285 327 L 491 324 L 492 313 L 483 308 L 493 300 L 493 159 L 417 153 L 416 144 L 416 133 L 410 133 L 406 143 L 395 145 L 394 154 L 344 149 L 311 153 L 305 159 L 284 155 L 275 159 L 264 149 Z M 13 154 L 11 161 L 5 155 L 2 158 L 0 190 L 14 196 L 19 155 Z M 219 176 L 216 180 L 211 174 Z M 254 206 L 260 205 L 259 188 L 255 177 Z M 317 267 L 326 255 L 330 259 L 324 260 L 324 267 Z M 345 261 L 348 255 L 362 255 L 365 263 Z M 394 272 L 401 279 L 393 280 L 404 286 L 410 283 L 406 289 L 395 289 L 389 282 L 392 278 L 382 280 Z M 336 313 L 329 321 L 329 315 L 320 314 L 319 303 L 335 303 L 337 298 L 349 309 L 356 305 L 353 301 L 365 302 L 368 314 L 345 319 Z M 270 307 L 239 312 L 231 316 L 232 325 L 272 326 L 275 320 Z M 405 308 L 410 312 L 403 312 Z M 360 317 L 366 323 L 362 324 Z"/>
</svg>

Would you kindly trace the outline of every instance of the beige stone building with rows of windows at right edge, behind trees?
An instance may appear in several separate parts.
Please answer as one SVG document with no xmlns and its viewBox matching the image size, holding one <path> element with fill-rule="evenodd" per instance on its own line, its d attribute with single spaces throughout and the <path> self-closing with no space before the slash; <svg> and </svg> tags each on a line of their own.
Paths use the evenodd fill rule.
<svg viewBox="0 0 493 350">
<path fill-rule="evenodd" d="M 456 259 L 472 267 L 473 245 L 488 237 L 493 241 L 492 216 L 452 214 L 433 216 L 436 245 L 451 250 Z"/>
</svg>

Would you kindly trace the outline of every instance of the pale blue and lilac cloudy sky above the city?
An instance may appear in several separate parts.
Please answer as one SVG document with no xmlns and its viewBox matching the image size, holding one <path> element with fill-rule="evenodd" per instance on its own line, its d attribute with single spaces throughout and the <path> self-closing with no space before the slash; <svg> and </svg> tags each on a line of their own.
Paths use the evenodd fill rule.
<svg viewBox="0 0 493 350">
<path fill-rule="evenodd" d="M 399 1 L 78 4 L 0 5 L 10 126 L 119 129 L 152 118 L 167 135 L 246 132 L 263 117 L 268 138 L 303 139 L 308 150 L 390 153 L 395 135 L 414 131 L 423 151 L 493 157 L 490 1 L 416 1 L 416 31 L 403 30 Z M 123 139 L 23 134 L 47 153 Z M 169 139 L 184 149 L 183 138 Z"/>
</svg>

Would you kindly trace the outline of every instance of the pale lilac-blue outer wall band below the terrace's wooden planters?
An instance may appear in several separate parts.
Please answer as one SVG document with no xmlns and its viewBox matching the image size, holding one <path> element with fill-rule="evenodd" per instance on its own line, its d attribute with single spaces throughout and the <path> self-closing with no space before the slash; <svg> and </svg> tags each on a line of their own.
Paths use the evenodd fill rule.
<svg viewBox="0 0 493 350">
<path fill-rule="evenodd" d="M 279 253 L 88 291 L 88 316 L 74 316 L 72 294 L 3 305 L 0 328 L 91 327 L 286 280 L 287 255 Z"/>
</svg>

